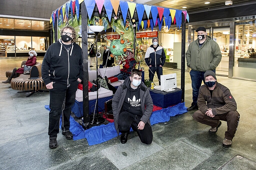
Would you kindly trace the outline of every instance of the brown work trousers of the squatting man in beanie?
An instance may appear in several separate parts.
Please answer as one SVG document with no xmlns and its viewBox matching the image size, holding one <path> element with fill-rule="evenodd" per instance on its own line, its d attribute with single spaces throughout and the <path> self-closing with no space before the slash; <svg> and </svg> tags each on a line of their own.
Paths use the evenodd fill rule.
<svg viewBox="0 0 256 170">
<path fill-rule="evenodd" d="M 209 125 L 212 128 L 218 126 L 219 120 L 226 121 L 228 130 L 225 132 L 225 138 L 232 140 L 234 134 L 237 131 L 240 115 L 237 111 L 230 111 L 222 115 L 215 115 L 213 118 L 210 118 L 204 113 L 202 113 L 200 110 L 198 110 L 194 113 L 192 117 L 194 118 L 195 121 Z"/>
</svg>

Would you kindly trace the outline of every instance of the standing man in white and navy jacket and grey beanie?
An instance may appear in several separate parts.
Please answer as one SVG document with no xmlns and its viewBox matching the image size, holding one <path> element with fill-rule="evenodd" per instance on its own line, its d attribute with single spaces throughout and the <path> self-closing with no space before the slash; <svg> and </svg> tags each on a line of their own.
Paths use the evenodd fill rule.
<svg viewBox="0 0 256 170">
<path fill-rule="evenodd" d="M 157 37 L 153 37 L 152 43 L 153 45 L 151 45 L 146 51 L 145 62 L 149 67 L 148 76 L 150 81 L 153 81 L 156 72 L 159 85 L 161 85 L 160 75 L 163 75 L 162 66 L 165 64 L 165 51 L 158 45 Z"/>
</svg>

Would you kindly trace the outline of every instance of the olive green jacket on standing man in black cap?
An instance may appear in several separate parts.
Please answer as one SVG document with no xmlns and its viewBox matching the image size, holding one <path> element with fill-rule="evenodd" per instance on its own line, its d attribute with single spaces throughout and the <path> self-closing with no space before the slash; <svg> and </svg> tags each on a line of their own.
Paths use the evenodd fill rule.
<svg viewBox="0 0 256 170">
<path fill-rule="evenodd" d="M 187 52 L 187 66 L 194 71 L 214 70 L 221 62 L 222 54 L 218 44 L 206 37 L 201 48 L 199 48 L 199 39 L 189 44 Z"/>
</svg>

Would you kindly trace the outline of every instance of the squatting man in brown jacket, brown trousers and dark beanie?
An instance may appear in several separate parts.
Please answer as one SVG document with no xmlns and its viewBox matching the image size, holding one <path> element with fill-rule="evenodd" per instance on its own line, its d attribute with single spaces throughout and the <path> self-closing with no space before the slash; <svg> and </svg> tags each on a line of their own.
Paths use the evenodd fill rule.
<svg viewBox="0 0 256 170">
<path fill-rule="evenodd" d="M 226 121 L 228 130 L 223 140 L 224 147 L 232 145 L 240 115 L 237 112 L 237 103 L 229 89 L 217 82 L 213 71 L 204 73 L 205 84 L 199 89 L 197 104 L 199 110 L 193 115 L 194 120 L 211 126 L 210 133 L 216 133 L 221 121 Z"/>
</svg>

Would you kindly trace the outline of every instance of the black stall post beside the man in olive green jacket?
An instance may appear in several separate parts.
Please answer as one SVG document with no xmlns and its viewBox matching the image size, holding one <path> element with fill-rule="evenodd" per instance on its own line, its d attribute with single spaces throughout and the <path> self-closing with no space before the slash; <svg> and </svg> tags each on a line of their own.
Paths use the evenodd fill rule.
<svg viewBox="0 0 256 170">
<path fill-rule="evenodd" d="M 185 102 L 185 41 L 186 41 L 186 22 L 185 15 L 182 13 L 182 25 L 181 25 L 181 102 Z"/>
</svg>

